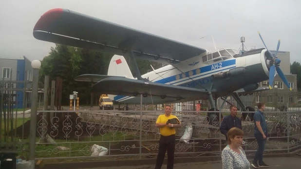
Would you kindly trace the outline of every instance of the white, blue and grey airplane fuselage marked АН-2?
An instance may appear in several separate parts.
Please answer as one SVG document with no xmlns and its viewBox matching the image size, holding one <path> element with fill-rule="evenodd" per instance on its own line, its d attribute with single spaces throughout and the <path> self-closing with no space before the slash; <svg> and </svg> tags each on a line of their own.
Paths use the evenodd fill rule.
<svg viewBox="0 0 301 169">
<path fill-rule="evenodd" d="M 214 60 L 203 62 L 203 56 L 195 56 L 174 65 L 167 65 L 142 75 L 151 82 L 198 88 L 211 91 L 218 96 L 244 88 L 252 91 L 258 88 L 258 83 L 268 79 L 268 68 L 265 64 L 266 50 L 257 50 L 249 55 L 236 55 L 237 57 L 217 57 Z M 206 54 L 207 55 L 207 54 Z M 206 56 L 205 55 L 205 56 Z M 225 60 L 224 60 L 225 59 Z M 224 74 L 222 74 L 224 73 Z M 110 98 L 122 103 L 140 103 L 140 96 L 110 95 Z M 206 94 L 196 97 L 175 100 L 159 96 L 143 97 L 143 104 L 160 104 L 166 102 L 181 102 L 207 99 Z"/>
</svg>

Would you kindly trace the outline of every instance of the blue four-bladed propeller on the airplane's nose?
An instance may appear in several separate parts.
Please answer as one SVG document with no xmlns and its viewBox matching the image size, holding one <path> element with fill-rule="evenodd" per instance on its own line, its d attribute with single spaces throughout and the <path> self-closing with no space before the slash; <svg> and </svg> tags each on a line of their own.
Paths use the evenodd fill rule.
<svg viewBox="0 0 301 169">
<path fill-rule="evenodd" d="M 263 41 L 263 37 L 260 35 L 259 31 L 258 31 L 258 34 L 259 34 L 259 37 L 261 38 L 261 40 Z M 264 41 L 263 41 L 263 45 L 265 46 L 265 49 L 268 51 L 268 53 L 271 56 L 271 58 L 268 58 L 270 60 L 270 65 L 271 65 L 270 72 L 269 72 L 269 88 L 272 89 L 273 82 L 274 82 L 274 76 L 275 76 L 275 73 L 277 72 L 278 75 L 280 76 L 280 78 L 282 79 L 282 81 L 284 82 L 284 84 L 289 88 L 289 90 L 292 90 L 292 87 L 288 83 L 285 75 L 283 74 L 282 70 L 279 67 L 281 60 L 279 58 L 277 58 L 277 54 L 278 54 L 278 50 L 280 47 L 280 39 L 278 40 L 278 45 L 277 45 L 277 50 L 276 50 L 275 56 L 273 56 L 272 53 L 267 49 Z"/>
</svg>

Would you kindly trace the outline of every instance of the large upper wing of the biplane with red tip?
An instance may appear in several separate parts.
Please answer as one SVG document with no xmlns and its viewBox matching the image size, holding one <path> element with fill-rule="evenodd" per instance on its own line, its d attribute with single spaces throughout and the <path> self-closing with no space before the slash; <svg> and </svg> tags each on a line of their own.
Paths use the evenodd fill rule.
<svg viewBox="0 0 301 169">
<path fill-rule="evenodd" d="M 166 60 L 177 63 L 206 52 L 202 48 L 67 9 L 47 11 L 36 23 L 33 35 L 39 40 L 116 55 L 124 55 L 124 50 L 131 48 L 137 58 L 163 63 Z"/>
</svg>

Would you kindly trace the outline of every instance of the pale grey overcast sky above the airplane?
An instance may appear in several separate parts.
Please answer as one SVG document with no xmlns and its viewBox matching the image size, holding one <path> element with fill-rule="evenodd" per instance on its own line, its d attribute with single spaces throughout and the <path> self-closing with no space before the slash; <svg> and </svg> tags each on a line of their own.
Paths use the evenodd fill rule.
<svg viewBox="0 0 301 169">
<path fill-rule="evenodd" d="M 301 62 L 300 0 L 0 0 L 1 56 L 47 56 L 54 43 L 33 37 L 45 12 L 65 8 L 171 38 L 207 50 L 241 46 L 290 51 L 290 62 Z M 206 37 L 206 38 L 202 38 Z"/>
</svg>

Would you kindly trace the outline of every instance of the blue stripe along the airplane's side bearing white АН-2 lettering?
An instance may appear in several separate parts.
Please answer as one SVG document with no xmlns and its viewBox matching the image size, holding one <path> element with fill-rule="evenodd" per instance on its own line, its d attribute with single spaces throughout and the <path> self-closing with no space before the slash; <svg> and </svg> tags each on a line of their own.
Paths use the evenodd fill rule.
<svg viewBox="0 0 301 169">
<path fill-rule="evenodd" d="M 226 70 L 226 69 L 231 69 L 231 68 L 234 68 L 234 67 L 231 67 L 231 68 L 226 68 L 226 69 L 222 69 L 222 70 L 219 70 L 220 68 L 223 68 L 223 67 L 226 67 L 226 66 L 231 66 L 231 65 L 235 65 L 236 63 L 236 59 L 231 59 L 231 60 L 225 60 L 225 61 L 222 61 L 222 62 L 218 62 L 218 63 L 215 63 L 215 64 L 211 64 L 211 65 L 208 65 L 208 66 L 204 66 L 204 67 L 200 67 L 200 68 L 197 68 L 197 69 L 200 69 L 201 71 L 201 74 L 203 73 L 206 73 L 206 72 L 209 72 L 209 71 L 213 71 L 213 70 L 217 70 L 217 71 L 214 71 L 214 72 L 210 72 L 210 73 L 207 73 L 207 74 L 203 74 L 203 75 L 199 75 L 199 76 L 196 76 L 196 77 L 200 77 L 200 76 L 204 76 L 204 75 L 208 75 L 208 74 L 212 74 L 212 73 L 215 73 L 215 72 L 219 72 L 219 71 L 222 71 L 222 70 Z M 194 69 L 194 70 L 190 70 L 192 71 L 193 75 L 197 75 L 196 74 L 196 70 L 197 69 Z M 189 72 L 190 71 L 187 71 L 187 72 L 184 72 L 185 76 L 188 77 L 190 76 L 189 75 Z M 180 78 L 182 78 L 182 74 L 178 74 L 180 75 Z M 191 75 L 191 76 L 193 76 Z M 175 81 L 177 80 L 176 79 L 176 76 L 177 75 L 172 75 L 170 77 L 166 77 L 164 79 L 160 79 L 160 80 L 157 80 L 157 81 L 154 81 L 156 83 L 170 83 L 172 81 Z M 192 78 L 196 78 L 196 77 L 192 77 Z M 175 83 L 179 83 L 179 82 L 183 82 L 183 81 L 189 81 L 189 83 L 195 83 L 195 82 L 190 82 L 191 79 L 184 79 L 184 80 L 181 80 L 181 81 L 177 81 L 177 82 L 173 82 L 172 84 L 175 84 Z M 184 83 L 184 84 L 181 84 L 179 86 L 187 86 L 187 84 L 189 83 Z M 191 85 L 189 85 L 191 87 Z M 114 96 L 114 100 L 118 100 L 118 99 L 121 99 L 123 97 L 130 97 L 130 96 L 125 96 L 125 95 L 116 95 Z M 123 98 L 125 99 L 125 98 Z"/>
</svg>

